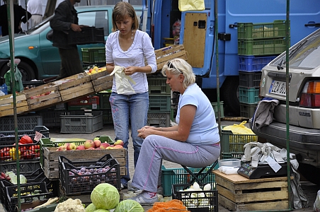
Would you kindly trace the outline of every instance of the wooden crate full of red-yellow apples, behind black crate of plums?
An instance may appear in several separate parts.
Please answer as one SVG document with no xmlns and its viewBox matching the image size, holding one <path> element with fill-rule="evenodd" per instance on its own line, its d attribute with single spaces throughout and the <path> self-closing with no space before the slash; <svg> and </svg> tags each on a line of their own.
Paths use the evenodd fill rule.
<svg viewBox="0 0 320 212">
<path fill-rule="evenodd" d="M 125 158 L 127 149 L 105 149 L 105 150 L 85 150 L 85 151 L 57 151 L 57 147 L 44 147 L 43 151 L 43 170 L 48 179 L 59 178 L 59 156 L 64 156 L 72 161 L 79 160 L 98 160 L 106 154 L 113 155 L 120 165 L 120 175 L 126 175 Z"/>
</svg>

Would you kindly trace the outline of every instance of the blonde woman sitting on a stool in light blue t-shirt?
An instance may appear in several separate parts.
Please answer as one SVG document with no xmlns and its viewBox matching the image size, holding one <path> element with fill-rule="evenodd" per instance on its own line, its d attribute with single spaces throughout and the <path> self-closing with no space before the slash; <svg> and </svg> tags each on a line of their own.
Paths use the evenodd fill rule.
<svg viewBox="0 0 320 212">
<path fill-rule="evenodd" d="M 168 61 L 162 69 L 172 91 L 181 93 L 176 126 L 144 126 L 138 136 L 144 139 L 131 185 L 142 193 L 132 199 L 142 205 L 158 201 L 161 163 L 168 160 L 187 167 L 212 165 L 220 154 L 220 137 L 210 100 L 195 83 L 193 69 L 183 59 Z"/>
</svg>

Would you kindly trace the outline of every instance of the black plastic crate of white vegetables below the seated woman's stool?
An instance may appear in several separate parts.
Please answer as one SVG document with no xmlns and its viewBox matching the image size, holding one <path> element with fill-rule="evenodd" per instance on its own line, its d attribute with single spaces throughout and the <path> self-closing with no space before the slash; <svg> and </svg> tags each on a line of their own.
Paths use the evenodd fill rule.
<svg viewBox="0 0 320 212">
<path fill-rule="evenodd" d="M 172 199 L 178 199 L 191 212 L 218 211 L 218 191 L 184 191 L 193 184 L 173 184 Z M 200 184 L 203 189 L 205 184 Z"/>
</svg>

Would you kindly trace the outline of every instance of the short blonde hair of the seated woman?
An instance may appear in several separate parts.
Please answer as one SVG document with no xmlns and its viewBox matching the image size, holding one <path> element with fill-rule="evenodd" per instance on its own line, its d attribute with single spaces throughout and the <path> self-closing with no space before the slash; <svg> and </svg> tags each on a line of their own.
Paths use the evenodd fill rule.
<svg viewBox="0 0 320 212">
<path fill-rule="evenodd" d="M 187 61 L 181 58 L 172 59 L 168 61 L 164 67 L 162 67 L 161 73 L 166 76 L 166 71 L 178 76 L 180 73 L 183 74 L 183 88 L 187 89 L 188 86 L 195 83 L 195 73 L 193 73 L 193 67 L 188 64 Z"/>
</svg>

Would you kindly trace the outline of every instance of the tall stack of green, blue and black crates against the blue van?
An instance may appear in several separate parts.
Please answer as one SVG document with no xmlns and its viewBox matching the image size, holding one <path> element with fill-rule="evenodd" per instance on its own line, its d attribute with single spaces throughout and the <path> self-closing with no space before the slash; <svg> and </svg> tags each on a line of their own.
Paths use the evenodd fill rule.
<svg viewBox="0 0 320 212">
<path fill-rule="evenodd" d="M 259 99 L 261 69 L 285 52 L 286 23 L 238 23 L 241 117 L 251 118 Z"/>
</svg>

